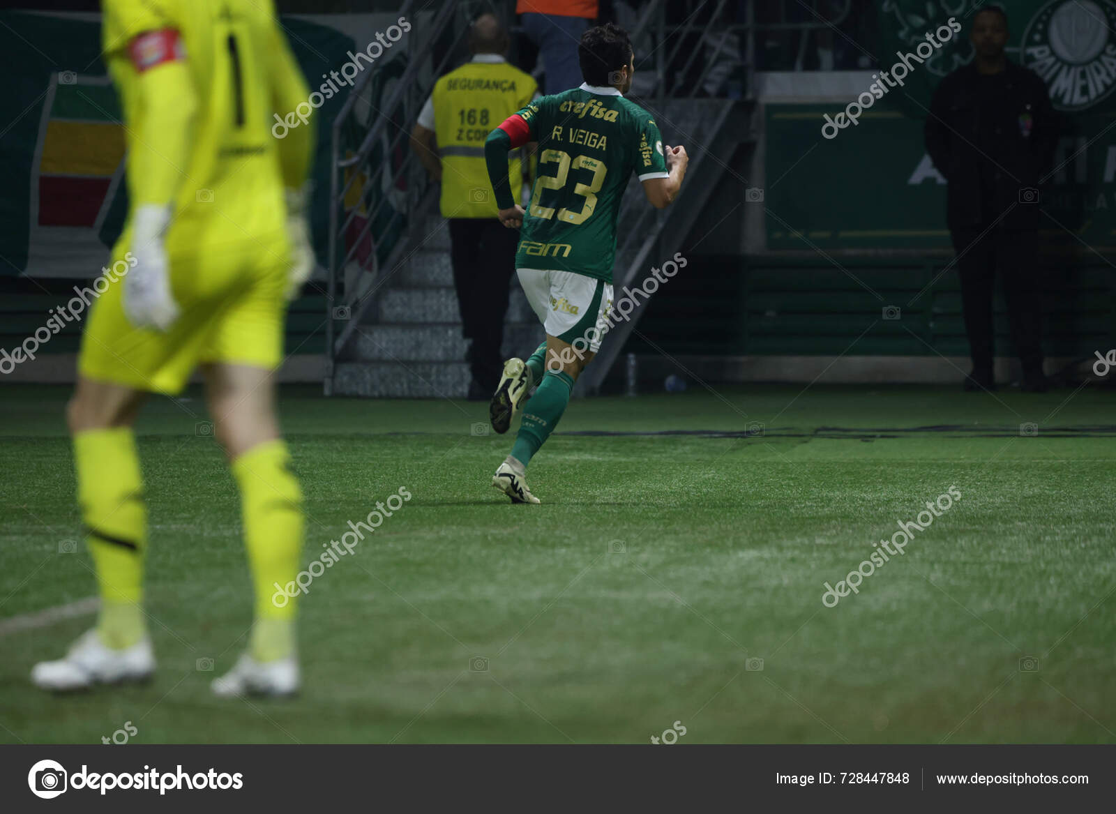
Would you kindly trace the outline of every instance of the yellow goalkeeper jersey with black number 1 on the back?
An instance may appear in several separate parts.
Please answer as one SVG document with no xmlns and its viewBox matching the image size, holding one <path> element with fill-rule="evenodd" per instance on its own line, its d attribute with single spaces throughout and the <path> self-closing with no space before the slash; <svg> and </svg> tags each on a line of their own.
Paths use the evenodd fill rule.
<svg viewBox="0 0 1116 814">
<path fill-rule="evenodd" d="M 171 203 L 172 253 L 282 231 L 283 186 L 302 185 L 314 136 L 312 125 L 291 128 L 291 143 L 271 134 L 275 113 L 295 111 L 309 93 L 272 0 L 105 0 L 103 40 L 124 111 L 129 211 Z M 177 160 L 134 126 L 140 74 L 175 51 L 198 106 Z"/>
</svg>

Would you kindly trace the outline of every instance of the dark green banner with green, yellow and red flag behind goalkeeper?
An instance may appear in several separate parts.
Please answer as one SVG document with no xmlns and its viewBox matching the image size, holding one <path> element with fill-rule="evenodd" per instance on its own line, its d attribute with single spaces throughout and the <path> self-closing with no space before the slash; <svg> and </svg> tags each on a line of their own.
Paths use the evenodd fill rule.
<svg viewBox="0 0 1116 814">
<path fill-rule="evenodd" d="M 283 17 L 295 58 L 311 88 L 349 60 L 383 15 Z M 392 17 L 394 20 L 394 17 Z M 100 16 L 0 11 L 0 48 L 8 56 L 7 114 L 0 118 L 0 275 L 88 278 L 99 272 L 127 214 L 125 138 L 116 92 L 100 58 Z M 377 64 L 384 78 L 393 61 Z M 329 123 L 338 94 L 316 111 L 318 124 L 311 227 L 319 265 L 328 232 Z M 371 108 L 378 98 L 369 99 Z M 367 205 L 352 201 L 349 205 Z M 382 216 L 384 217 L 384 208 Z M 397 229 L 395 230 L 397 231 Z M 383 236 L 366 240 L 384 251 Z"/>
</svg>

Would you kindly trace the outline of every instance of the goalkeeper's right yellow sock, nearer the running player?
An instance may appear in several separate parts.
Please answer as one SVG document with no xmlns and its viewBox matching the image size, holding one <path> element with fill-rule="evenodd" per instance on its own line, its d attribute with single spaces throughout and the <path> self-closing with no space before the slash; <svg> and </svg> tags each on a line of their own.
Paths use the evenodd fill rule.
<svg viewBox="0 0 1116 814">
<path fill-rule="evenodd" d="M 302 491 L 290 471 L 290 454 L 280 441 L 253 447 L 232 462 L 240 486 L 244 545 L 256 592 L 249 653 L 273 661 L 295 652 L 295 597 L 281 606 L 278 588 L 294 582 L 302 548 Z"/>
</svg>

